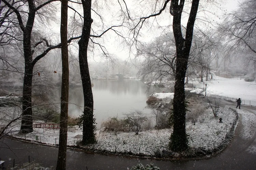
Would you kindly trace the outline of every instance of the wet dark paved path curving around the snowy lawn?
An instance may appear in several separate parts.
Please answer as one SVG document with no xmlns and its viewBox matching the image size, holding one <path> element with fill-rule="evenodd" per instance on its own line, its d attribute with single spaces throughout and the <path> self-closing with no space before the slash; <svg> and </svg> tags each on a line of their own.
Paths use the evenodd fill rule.
<svg viewBox="0 0 256 170">
<path fill-rule="evenodd" d="M 229 107 L 236 104 L 223 102 Z M 247 112 L 244 112 L 246 110 Z M 67 151 L 67 169 L 115 169 L 127 170 L 132 165 L 154 163 L 161 170 L 165 169 L 256 169 L 256 108 L 241 106 L 238 127 L 233 140 L 220 154 L 201 160 L 163 161 L 150 159 L 136 159 L 99 154 L 85 154 L 69 149 Z M 250 118 L 250 119 L 248 119 Z M 8 144 L 11 150 L 6 148 Z M 36 160 L 43 166 L 55 166 L 58 148 L 39 144 L 23 143 L 11 139 L 0 141 L 0 158 L 6 160 L 6 166 Z"/>
</svg>

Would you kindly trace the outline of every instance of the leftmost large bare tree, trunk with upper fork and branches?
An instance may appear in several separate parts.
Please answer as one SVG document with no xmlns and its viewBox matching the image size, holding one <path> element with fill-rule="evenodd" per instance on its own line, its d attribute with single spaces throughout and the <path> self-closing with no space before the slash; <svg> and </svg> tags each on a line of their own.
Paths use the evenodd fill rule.
<svg viewBox="0 0 256 170">
<path fill-rule="evenodd" d="M 34 21 L 36 20 L 36 16 L 39 15 L 40 19 L 44 18 L 46 12 L 54 12 L 55 10 L 45 10 L 44 8 L 57 0 L 49 0 L 49 1 L 18 1 L 22 6 L 28 7 L 28 12 L 26 15 L 23 15 L 23 10 L 17 9 L 16 5 L 10 4 L 6 0 L 2 0 L 6 6 L 8 6 L 15 14 L 18 20 L 17 25 L 23 33 L 23 55 L 25 59 L 25 73 L 24 73 L 24 83 L 23 83 L 23 115 L 28 115 L 27 117 L 23 117 L 22 126 L 20 130 L 22 133 L 29 133 L 33 131 L 32 127 L 32 78 L 33 78 L 33 68 L 35 63 L 37 63 L 41 58 L 47 55 L 47 53 L 55 48 L 60 48 L 61 44 L 51 45 L 46 38 L 40 38 L 39 41 L 31 43 L 32 30 Z M 52 6 L 53 7 L 53 6 Z M 47 15 L 46 15 L 47 16 Z M 70 38 L 68 43 L 78 37 Z M 40 45 L 44 45 L 44 49 L 42 52 L 35 52 L 35 49 L 40 47 Z M 36 55 L 36 56 L 34 56 Z"/>
</svg>

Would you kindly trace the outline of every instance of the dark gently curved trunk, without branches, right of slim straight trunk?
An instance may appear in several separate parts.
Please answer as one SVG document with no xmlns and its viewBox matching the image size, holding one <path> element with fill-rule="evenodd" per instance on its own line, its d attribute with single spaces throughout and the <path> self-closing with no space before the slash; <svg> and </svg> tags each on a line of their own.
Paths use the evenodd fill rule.
<svg viewBox="0 0 256 170">
<path fill-rule="evenodd" d="M 91 0 L 82 0 L 84 10 L 84 24 L 81 39 L 79 40 L 79 66 L 84 93 L 83 139 L 82 143 L 94 143 L 94 118 L 93 118 L 93 91 L 87 61 L 87 48 L 90 38 L 91 23 Z"/>
</svg>

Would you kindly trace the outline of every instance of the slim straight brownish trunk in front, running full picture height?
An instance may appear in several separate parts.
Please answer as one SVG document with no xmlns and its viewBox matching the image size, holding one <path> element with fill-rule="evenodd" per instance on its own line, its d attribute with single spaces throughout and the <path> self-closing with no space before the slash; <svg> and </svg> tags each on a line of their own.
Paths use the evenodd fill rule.
<svg viewBox="0 0 256 170">
<path fill-rule="evenodd" d="M 61 58 L 62 58 L 62 82 L 60 97 L 60 131 L 59 131 L 59 152 L 57 170 L 66 169 L 67 157 L 67 130 L 68 130 L 68 97 L 69 97 L 69 61 L 68 61 L 68 0 L 61 1 Z"/>
</svg>

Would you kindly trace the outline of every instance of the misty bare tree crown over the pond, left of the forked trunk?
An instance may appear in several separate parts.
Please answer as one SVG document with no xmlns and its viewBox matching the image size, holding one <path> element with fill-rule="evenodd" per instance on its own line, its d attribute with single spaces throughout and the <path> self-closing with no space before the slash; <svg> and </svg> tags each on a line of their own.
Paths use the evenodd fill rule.
<svg viewBox="0 0 256 170">
<path fill-rule="evenodd" d="M 151 43 L 141 43 L 137 48 L 137 55 L 143 57 L 139 71 L 143 80 L 171 80 L 174 78 L 176 53 L 172 32 L 156 37 Z"/>
</svg>

